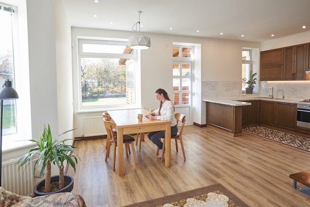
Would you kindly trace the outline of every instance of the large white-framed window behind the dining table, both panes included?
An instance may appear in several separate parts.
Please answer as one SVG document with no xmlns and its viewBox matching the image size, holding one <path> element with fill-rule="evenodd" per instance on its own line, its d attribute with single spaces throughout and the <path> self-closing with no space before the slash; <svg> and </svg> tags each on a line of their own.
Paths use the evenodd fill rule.
<svg viewBox="0 0 310 207">
<path fill-rule="evenodd" d="M 136 51 L 127 42 L 79 40 L 80 108 L 136 104 Z"/>
</svg>

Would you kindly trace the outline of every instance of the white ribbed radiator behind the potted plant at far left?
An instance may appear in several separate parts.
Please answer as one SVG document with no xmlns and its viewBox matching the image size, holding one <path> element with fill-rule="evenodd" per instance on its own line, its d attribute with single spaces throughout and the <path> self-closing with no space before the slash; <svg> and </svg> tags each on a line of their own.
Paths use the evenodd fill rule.
<svg viewBox="0 0 310 207">
<path fill-rule="evenodd" d="M 33 164 L 19 167 L 20 157 L 2 161 L 2 188 L 21 196 L 34 196 Z"/>
</svg>

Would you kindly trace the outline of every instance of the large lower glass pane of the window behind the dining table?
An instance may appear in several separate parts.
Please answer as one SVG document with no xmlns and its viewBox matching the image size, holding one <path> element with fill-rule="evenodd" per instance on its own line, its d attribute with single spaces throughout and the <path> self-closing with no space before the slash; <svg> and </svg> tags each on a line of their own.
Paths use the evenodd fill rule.
<svg viewBox="0 0 310 207">
<path fill-rule="evenodd" d="M 135 61 L 81 58 L 82 106 L 135 103 Z"/>
</svg>

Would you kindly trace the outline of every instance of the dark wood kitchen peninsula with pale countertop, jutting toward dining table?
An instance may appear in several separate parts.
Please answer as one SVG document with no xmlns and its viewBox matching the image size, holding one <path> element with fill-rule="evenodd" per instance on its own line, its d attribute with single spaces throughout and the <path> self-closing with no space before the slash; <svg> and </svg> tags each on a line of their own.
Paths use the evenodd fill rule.
<svg viewBox="0 0 310 207">
<path fill-rule="evenodd" d="M 206 101 L 207 127 L 232 137 L 242 133 L 242 106 L 251 105 L 244 101 L 203 99 Z"/>
</svg>

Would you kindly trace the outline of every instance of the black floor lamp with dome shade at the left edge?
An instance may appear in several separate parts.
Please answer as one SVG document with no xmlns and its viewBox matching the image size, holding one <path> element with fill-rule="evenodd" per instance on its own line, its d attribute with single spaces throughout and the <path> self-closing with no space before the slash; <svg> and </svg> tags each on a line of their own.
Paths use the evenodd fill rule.
<svg viewBox="0 0 310 207">
<path fill-rule="evenodd" d="M 5 87 L 4 87 L 5 86 Z M 3 88 L 4 87 L 4 88 Z M 8 99 L 17 99 L 18 94 L 14 88 L 12 88 L 12 81 L 5 80 L 5 83 L 2 86 L 2 90 L 0 92 L 0 100 L 1 100 L 1 128 L 0 128 L 0 186 L 2 180 L 2 117 L 3 117 L 3 100 Z"/>
</svg>

